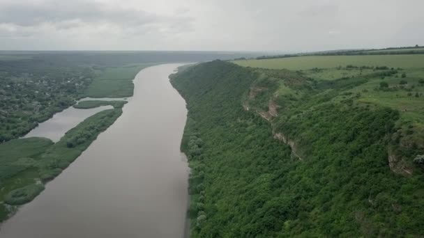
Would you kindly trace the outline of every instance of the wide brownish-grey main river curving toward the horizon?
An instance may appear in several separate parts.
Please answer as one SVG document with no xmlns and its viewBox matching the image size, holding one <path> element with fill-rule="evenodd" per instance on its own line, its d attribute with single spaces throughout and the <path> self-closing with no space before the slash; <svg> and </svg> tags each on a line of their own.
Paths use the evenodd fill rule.
<svg viewBox="0 0 424 238">
<path fill-rule="evenodd" d="M 3 223 L 0 237 L 183 237 L 187 111 L 168 79 L 177 66 L 140 71 L 122 116 Z"/>
</svg>

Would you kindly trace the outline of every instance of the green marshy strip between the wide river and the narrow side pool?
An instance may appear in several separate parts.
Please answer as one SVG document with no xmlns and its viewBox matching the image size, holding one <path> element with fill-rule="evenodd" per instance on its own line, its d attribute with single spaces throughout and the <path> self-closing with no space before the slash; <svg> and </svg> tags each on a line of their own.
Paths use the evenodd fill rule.
<svg viewBox="0 0 424 238">
<path fill-rule="evenodd" d="M 0 221 L 10 214 L 6 204 L 31 201 L 45 182 L 75 161 L 121 113 L 122 109 L 100 111 L 70 129 L 57 143 L 36 137 L 0 144 Z"/>
</svg>

